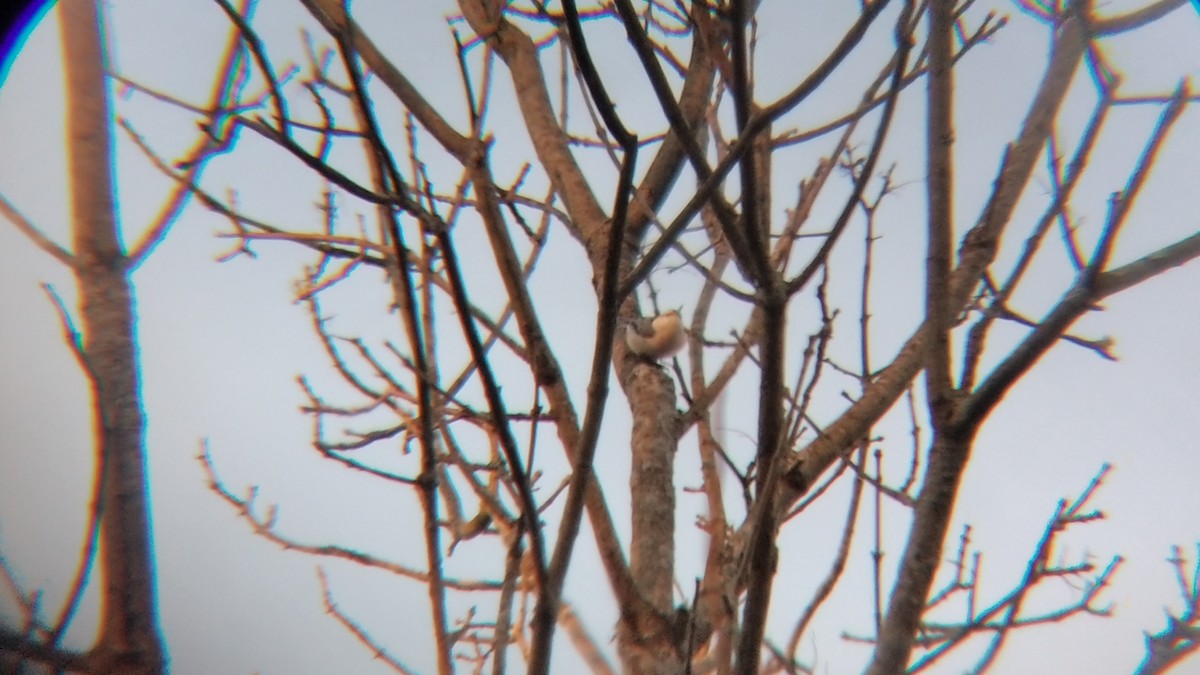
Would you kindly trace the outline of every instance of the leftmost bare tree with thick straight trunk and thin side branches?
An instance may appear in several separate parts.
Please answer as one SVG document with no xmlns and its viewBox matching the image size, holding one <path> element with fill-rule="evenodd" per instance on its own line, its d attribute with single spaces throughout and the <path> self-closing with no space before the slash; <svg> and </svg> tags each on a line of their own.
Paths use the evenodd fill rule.
<svg viewBox="0 0 1200 675">
<path fill-rule="evenodd" d="M 70 247 L 55 243 L 0 195 L 0 213 L 38 249 L 76 277 L 79 327 L 49 286 L 43 285 L 62 323 L 64 339 L 84 372 L 91 394 L 95 438 L 94 485 L 77 572 L 64 605 L 46 617 L 40 590 L 23 589 L 0 557 L 6 595 L 18 601 L 19 629 L 0 625 L 0 668 L 37 663 L 54 670 L 155 674 L 166 670 L 158 627 L 155 556 L 146 486 L 145 419 L 140 392 L 137 316 L 131 275 L 162 240 L 191 197 L 167 196 L 157 220 L 131 246 L 121 241 L 113 177 L 113 125 L 100 8 L 94 0 L 59 4 L 66 65 L 66 145 L 71 187 Z M 239 53 L 230 44 L 226 67 Z M 217 89 L 214 106 L 229 88 Z M 204 139 L 192 151 L 188 175 L 197 177 L 215 145 Z M 95 562 L 100 562 L 98 571 Z M 86 652 L 62 646 L 84 591 L 98 577 L 100 633 Z"/>
</svg>

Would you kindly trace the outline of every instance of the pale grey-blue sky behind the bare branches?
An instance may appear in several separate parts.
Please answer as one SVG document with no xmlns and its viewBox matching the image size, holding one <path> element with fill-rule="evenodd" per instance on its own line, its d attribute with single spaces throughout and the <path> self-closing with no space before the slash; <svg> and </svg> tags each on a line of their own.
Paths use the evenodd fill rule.
<svg viewBox="0 0 1200 675">
<path fill-rule="evenodd" d="M 786 90 L 796 73 L 806 72 L 816 62 L 822 46 L 830 44 L 847 25 L 847 12 L 854 4 L 847 5 L 839 12 L 826 2 L 763 2 L 761 100 L 772 100 Z M 1014 5 L 979 5 L 973 10 L 976 19 L 994 6 L 1009 14 L 1012 23 L 991 44 L 973 52 L 959 74 L 956 162 L 961 174 L 955 207 L 960 223 L 973 222 L 979 213 L 1003 142 L 1018 127 L 1028 90 L 1040 74 L 1046 44 L 1045 30 Z M 1104 10 L 1117 12 L 1130 5 L 1110 4 Z M 360 23 L 406 74 L 444 110 L 452 112 L 451 121 L 463 129 L 466 114 L 445 20 L 452 11 L 450 4 L 413 2 L 398 12 L 388 2 L 360 0 L 354 8 Z M 889 17 L 894 10 L 872 31 L 874 42 L 859 60 L 847 64 L 845 82 L 853 84 L 821 90 L 790 118 L 788 125 L 804 129 L 857 100 L 859 83 L 874 74 L 871 68 L 877 67 L 881 50 L 890 48 Z M 228 36 L 220 7 L 182 0 L 115 1 L 108 5 L 107 22 L 118 71 L 193 102 L 208 98 L 212 68 Z M 264 2 L 254 25 L 280 70 L 302 55 L 300 26 L 322 35 L 302 8 L 292 4 Z M 641 112 L 649 109 L 636 106 L 646 98 L 646 88 L 620 34 L 612 25 L 589 30 L 589 38 L 611 40 L 601 67 L 608 82 L 620 83 L 617 91 L 624 102 L 622 113 L 637 120 Z M 1200 72 L 1198 36 L 1200 18 L 1195 11 L 1184 10 L 1136 40 L 1109 40 L 1104 48 L 1118 70 L 1127 73 L 1130 91 L 1163 91 L 1172 89 L 1181 77 Z M 805 48 L 797 50 L 796 46 Z M 506 72 L 498 68 L 497 76 L 503 78 Z M 497 96 L 491 118 L 498 139 L 493 155 L 497 173 L 515 175 L 520 162 L 532 155 L 523 131 L 514 121 L 509 88 L 499 86 Z M 889 210 L 880 223 L 876 277 L 887 281 L 872 289 L 875 322 L 881 327 L 874 341 L 877 364 L 887 363 L 916 327 L 923 297 L 924 241 L 919 228 L 924 167 L 919 156 L 912 155 L 923 143 L 922 96 L 916 88 L 908 92 L 886 156 L 886 161 L 901 162 L 896 175 L 906 187 L 888 202 Z M 1091 101 L 1086 79 L 1080 77 L 1067 107 L 1067 124 L 1081 124 Z M 194 139 L 194 119 L 188 114 L 121 88 L 114 88 L 114 103 L 118 114 L 126 115 L 163 156 L 179 156 Z M 379 106 L 380 117 L 388 119 L 394 107 L 384 102 Z M 52 11 L 20 47 L 0 85 L 0 193 L 48 235 L 66 243 L 62 108 L 59 31 Z M 294 109 L 298 115 L 305 113 L 301 104 Z M 1123 185 L 1157 114 L 1157 109 L 1138 108 L 1114 113 L 1110 133 L 1096 155 L 1096 161 L 1108 168 L 1090 175 L 1080 189 L 1078 208 L 1087 241 L 1103 222 L 1106 195 Z M 1198 120 L 1200 117 L 1189 110 L 1176 127 L 1152 185 L 1121 239 L 1117 264 L 1200 227 L 1194 215 Z M 398 125 L 391 131 L 396 129 Z M 130 241 L 154 219 L 170 183 L 127 139 L 120 135 L 118 138 L 121 225 Z M 428 138 L 425 142 L 433 143 Z M 865 137 L 860 142 L 865 144 Z M 347 161 L 349 157 L 338 156 Z M 804 163 L 806 157 L 797 153 L 793 161 L 800 168 L 779 172 L 779 210 L 794 196 L 798 177 L 811 171 L 811 165 Z M 606 195 L 606 186 L 614 183 L 608 175 L 612 172 L 596 162 L 598 175 L 602 175 L 596 190 Z M 454 175 L 443 166 L 434 165 L 431 171 L 436 178 Z M 536 174 L 530 181 L 544 184 Z M 1038 185 L 1045 186 L 1045 181 L 1042 171 L 1031 192 Z M 235 154 L 215 160 L 205 185 L 221 196 L 227 187 L 236 186 L 239 204 L 271 222 L 310 229 L 319 226 L 313 202 L 320 183 L 256 139 L 244 137 Z M 601 201 L 606 203 L 607 196 Z M 1033 217 L 1036 207 L 1022 204 L 1018 217 Z M 256 537 L 205 485 L 196 461 L 202 440 L 208 440 L 217 470 L 232 489 L 241 492 L 258 485 L 260 504 L 280 504 L 278 525 L 289 536 L 308 543 L 338 543 L 413 565 L 422 560 L 420 512 L 409 494 L 338 471 L 311 449 L 311 422 L 298 410 L 305 399 L 295 378 L 304 374 L 322 390 L 340 392 L 305 307 L 294 303 L 294 280 L 312 257 L 287 245 L 263 244 L 256 246 L 257 259 L 242 257 L 217 264 L 216 258 L 230 250 L 230 243 L 215 234 L 227 231 L 228 223 L 221 217 L 193 204 L 133 276 L 149 423 L 161 620 L 173 671 L 388 671 L 324 614 L 317 566 L 328 573 L 344 611 L 414 669 L 431 671 L 422 586 L 337 561 L 281 551 Z M 860 231 L 856 232 L 852 237 L 857 240 Z M 563 360 L 572 393 L 582 401 L 594 331 L 590 275 L 560 227 L 551 239 L 530 288 L 547 311 L 562 317 L 548 322 L 551 342 L 562 354 L 577 354 Z M 840 247 L 834 267 L 848 270 L 858 264 L 856 246 Z M 486 250 L 464 246 L 463 255 L 468 269 L 487 274 Z M 1010 261 L 1012 253 L 1006 259 Z M 1069 282 L 1069 273 L 1058 259 L 1039 265 L 1033 274 L 1030 289 L 1018 301 L 1030 315 L 1038 316 Z M 474 291 L 481 301 L 496 306 L 498 289 L 490 288 L 485 276 L 475 279 L 479 281 Z M 698 288 L 695 274 L 659 275 L 656 281 L 664 306 L 692 301 Z M 0 438 L 0 555 L 26 587 L 44 590 L 43 607 L 53 611 L 72 577 L 83 536 L 91 476 L 90 405 L 85 382 L 61 342 L 54 309 L 40 288 L 42 282 L 52 283 L 67 306 L 74 306 L 71 276 L 14 228 L 0 223 L 0 428 L 5 429 Z M 995 597 L 1019 579 L 1056 501 L 1078 494 L 1105 461 L 1112 462 L 1115 470 L 1093 503 L 1108 519 L 1073 532 L 1061 552 L 1068 560 L 1086 552 L 1102 566 L 1112 555 L 1126 557 L 1112 587 L 1103 596 L 1116 609 L 1115 619 L 1078 619 L 1019 632 L 995 671 L 1129 671 L 1142 656 L 1141 632 L 1160 629 L 1163 608 L 1177 608 L 1172 569 L 1165 558 L 1172 544 L 1182 545 L 1194 558 L 1200 542 L 1200 490 L 1195 489 L 1200 462 L 1192 424 L 1200 374 L 1195 350 L 1200 336 L 1198 289 L 1200 265 L 1192 265 L 1105 301 L 1106 311 L 1085 318 L 1078 333 L 1112 335 L 1121 360 L 1109 363 L 1091 352 L 1058 346 L 1013 389 L 984 426 L 952 537 L 962 522 L 973 524 L 973 542 L 985 552 L 985 596 L 991 592 Z M 832 289 L 835 304 L 846 312 L 847 335 L 854 315 L 852 292 L 848 283 L 838 287 L 835 282 Z M 336 315 L 337 331 L 367 339 L 398 338 L 396 317 L 380 309 L 385 306 L 385 288 L 377 275 L 364 274 L 335 293 L 325 301 L 330 313 Z M 798 311 L 797 317 L 796 344 L 803 344 L 815 324 L 811 313 Z M 731 312 L 731 324 L 736 318 L 737 312 Z M 998 331 L 992 358 L 1020 335 L 1016 330 Z M 853 338 L 838 348 L 848 362 L 856 348 Z M 838 356 L 835 352 L 834 358 Z M 748 413 L 736 404 L 740 400 L 737 393 L 751 387 L 752 381 L 743 377 L 727 398 L 724 431 L 736 456 L 754 452 L 749 441 L 752 411 Z M 505 382 L 504 388 L 508 396 L 528 406 L 526 382 Z M 814 414 L 832 419 L 842 404 L 836 395 L 827 399 Z M 629 426 L 624 410 L 617 392 L 598 458 L 601 480 L 612 485 L 610 504 L 622 532 L 628 531 L 629 521 L 628 500 L 622 492 L 628 491 L 629 471 L 620 452 Z M 908 430 L 902 406 L 896 412 L 881 425 L 880 434 L 896 448 L 889 456 L 902 459 Z M 680 488 L 698 484 L 690 459 L 694 448 L 694 436 L 689 436 L 677 467 Z M 548 452 L 542 455 L 548 461 L 548 474 L 564 471 L 560 462 L 556 464 L 558 458 Z M 404 458 L 383 461 L 398 468 L 410 466 Z M 902 467 L 904 461 L 895 466 Z M 828 568 L 846 495 L 842 484 L 780 538 L 780 578 L 787 583 L 786 587 L 776 585 L 772 605 L 770 634 L 776 639 L 786 637 Z M 703 544 L 692 527 L 701 498 L 682 495 L 679 507 L 678 574 L 690 593 Z M 887 510 L 884 528 L 884 549 L 895 560 L 907 530 L 904 514 Z M 865 533 L 864 528 L 862 537 Z M 866 647 L 840 639 L 842 631 L 865 634 L 870 627 L 870 565 L 866 539 L 862 537 L 856 542 L 838 604 L 818 619 L 802 649 L 802 658 L 815 661 L 822 673 L 857 671 L 869 655 Z M 463 555 L 451 565 L 458 566 L 456 572 L 478 574 L 470 561 L 486 561 L 496 550 L 486 543 L 464 544 Z M 690 551 L 696 555 L 689 557 Z M 568 599 L 611 653 L 617 614 L 593 557 L 590 533 L 584 532 Z M 95 608 L 96 596 L 90 592 L 68 634 L 70 646 L 90 644 Z M 457 609 L 466 607 L 460 603 Z M 11 601 L 0 599 L 0 611 L 11 610 Z M 556 658 L 562 671 L 575 663 L 565 640 L 557 644 Z M 956 667 L 961 669 L 962 664 Z M 954 668 L 947 665 L 946 671 Z M 1187 667 L 1180 671 L 1188 671 Z"/>
</svg>

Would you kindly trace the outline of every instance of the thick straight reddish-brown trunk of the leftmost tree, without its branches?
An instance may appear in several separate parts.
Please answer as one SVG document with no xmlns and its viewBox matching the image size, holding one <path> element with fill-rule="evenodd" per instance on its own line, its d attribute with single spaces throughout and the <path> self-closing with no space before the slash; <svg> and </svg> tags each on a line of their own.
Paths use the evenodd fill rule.
<svg viewBox="0 0 1200 675">
<path fill-rule="evenodd" d="M 94 0 L 60 4 L 74 270 L 95 401 L 101 512 L 100 673 L 163 671 L 155 609 L 133 292 L 114 205 L 110 112 Z"/>
</svg>

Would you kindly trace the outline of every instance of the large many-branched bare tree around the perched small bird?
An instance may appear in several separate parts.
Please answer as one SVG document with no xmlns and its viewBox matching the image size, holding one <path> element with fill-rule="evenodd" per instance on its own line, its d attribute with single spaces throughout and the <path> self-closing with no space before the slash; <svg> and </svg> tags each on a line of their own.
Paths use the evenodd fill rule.
<svg viewBox="0 0 1200 675">
<path fill-rule="evenodd" d="M 1050 48 L 1009 125 L 1015 132 L 990 130 L 998 160 L 978 204 L 962 184 L 979 167 L 964 171 L 955 153 L 964 127 L 955 76 L 1006 19 L 970 0 L 864 1 L 844 25 L 829 25 L 835 34 L 823 47 L 794 46 L 810 49 L 793 61 L 814 64 L 808 70 L 763 59 L 760 2 L 460 0 L 450 22 L 456 50 L 446 54 L 460 66 L 457 109 L 421 91 L 406 74 L 418 65 L 394 60 L 344 2 L 301 0 L 325 37 L 305 32 L 294 66 L 278 65 L 248 7 L 216 5 L 240 47 L 208 104 L 114 74 L 193 112 L 202 150 L 166 159 L 136 120 L 122 129 L 182 193 L 229 223 L 227 258 L 268 241 L 312 251 L 296 299 L 349 388 L 329 393 L 300 380 L 313 448 L 415 496 L 424 566 L 298 540 L 254 489 L 218 478 L 208 447 L 200 460 L 214 491 L 259 536 L 419 581 L 438 673 L 456 664 L 547 673 L 559 628 L 598 673 L 810 671 L 799 645 L 864 525 L 876 538 L 875 631 L 847 638 L 871 645 L 872 674 L 923 670 L 979 644 L 970 653 L 982 671 L 1019 628 L 1109 613 L 1100 595 L 1120 558 L 1096 565 L 1057 552 L 1066 530 L 1102 518 L 1091 500 L 1106 467 L 1050 515 L 1024 575 L 1001 597 L 979 597 L 971 530 L 956 546 L 947 536 L 977 435 L 1014 384 L 1060 345 L 1112 358 L 1108 340 L 1070 333 L 1076 321 L 1200 256 L 1198 232 L 1115 262 L 1120 238 L 1150 226 L 1134 203 L 1195 95 L 1186 80 L 1147 95 L 1100 48 L 1187 2 L 1157 0 L 1121 16 L 1085 0 L 1018 2 L 1044 24 Z M 617 54 L 637 65 L 636 83 L 618 85 L 608 65 Z M 773 91 L 763 80 L 781 73 L 791 80 L 763 94 Z M 229 82 L 236 85 L 222 88 Z M 1084 123 L 1066 106 L 1079 88 L 1093 103 Z M 814 121 L 806 106 L 830 89 L 841 98 L 820 109 L 845 107 Z M 1096 148 L 1112 112 L 1128 106 L 1153 110 L 1158 123 L 1123 186 L 1097 205 L 1076 189 L 1118 171 Z M 901 107 L 919 115 L 905 118 Z M 520 131 L 494 121 L 505 114 Z M 521 136 L 505 148 L 528 143 L 532 155 L 503 156 L 505 135 Z M 905 137 L 924 144 L 913 150 Z M 316 225 L 272 222 L 200 180 L 198 167 L 216 153 L 263 151 L 319 177 Z M 924 177 L 907 187 L 923 205 L 904 201 L 901 177 Z M 794 202 L 782 189 L 796 190 Z M 970 220 L 965 209 L 974 210 Z M 1081 214 L 1102 211 L 1085 226 Z M 925 243 L 924 303 L 899 341 L 871 322 L 878 270 L 922 259 L 913 249 L 889 249 L 899 262 L 880 257 L 880 233 L 898 223 Z M 539 274 L 568 264 L 586 265 L 553 280 L 571 300 L 539 294 Z M 1069 277 L 1054 294 L 1031 288 L 1031 269 L 1044 265 Z M 374 311 L 394 313 L 394 330 L 341 334 L 326 303 L 346 306 L 338 292 L 358 280 L 386 282 Z M 1028 293 L 1050 307 L 1040 318 L 1022 310 Z M 674 330 L 668 310 L 679 303 L 686 344 L 676 357 L 668 345 L 647 345 L 662 338 L 654 330 Z M 564 322 L 590 319 L 592 306 L 589 344 L 577 330 L 570 344 L 556 338 Z M 854 328 L 840 318 L 847 306 Z M 1002 338 L 997 327 L 1021 333 Z M 892 356 L 881 363 L 881 353 Z M 628 539 L 613 515 L 618 488 L 596 472 L 598 448 L 617 444 L 608 410 L 617 398 L 631 423 L 619 442 L 630 456 Z M 754 420 L 742 425 L 750 452 L 731 442 L 722 412 Z M 910 446 L 880 436 L 887 416 L 907 417 Z M 900 478 L 884 471 L 886 459 L 905 467 Z M 704 508 L 686 515 L 706 536 L 694 587 L 677 581 L 676 522 L 686 518 L 677 465 L 702 476 L 695 491 Z M 835 563 L 786 643 L 772 639 L 780 532 L 839 482 L 851 502 Z M 883 500 L 911 510 L 905 552 L 890 568 L 878 544 Z M 569 602 L 583 532 L 619 608 L 619 667 Z M 1146 671 L 1178 663 L 1196 644 L 1195 584 L 1176 560 L 1188 604 L 1147 641 Z M 948 580 L 935 587 L 940 572 Z M 1075 599 L 1051 611 L 1031 602 L 1064 578 L 1078 583 Z M 322 584 L 328 613 L 396 671 L 413 670 Z M 965 616 L 947 619 L 955 602 Z"/>
</svg>

